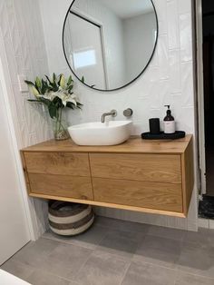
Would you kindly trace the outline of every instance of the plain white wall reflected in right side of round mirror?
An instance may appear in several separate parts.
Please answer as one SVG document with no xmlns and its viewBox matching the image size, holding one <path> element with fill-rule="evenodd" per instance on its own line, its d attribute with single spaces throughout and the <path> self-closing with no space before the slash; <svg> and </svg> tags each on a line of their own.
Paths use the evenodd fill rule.
<svg viewBox="0 0 214 285">
<path fill-rule="evenodd" d="M 123 20 L 126 80 L 131 82 L 148 64 L 157 30 L 154 13 L 133 16 Z M 152 31 L 152 33 L 151 33 Z"/>
</svg>

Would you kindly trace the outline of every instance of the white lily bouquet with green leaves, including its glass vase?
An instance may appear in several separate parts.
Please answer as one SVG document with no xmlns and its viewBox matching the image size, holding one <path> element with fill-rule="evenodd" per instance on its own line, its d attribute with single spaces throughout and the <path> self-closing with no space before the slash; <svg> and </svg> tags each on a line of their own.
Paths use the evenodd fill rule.
<svg viewBox="0 0 214 285">
<path fill-rule="evenodd" d="M 69 137 L 66 128 L 63 126 L 63 108 L 71 109 L 83 106 L 78 98 L 73 94 L 73 78 L 70 75 L 68 79 L 63 74 L 50 78 L 45 75 L 45 80 L 39 77 L 35 78 L 34 83 L 25 80 L 35 99 L 29 99 L 30 102 L 44 103 L 48 112 L 54 121 L 54 137 L 56 140 L 63 140 Z"/>
</svg>

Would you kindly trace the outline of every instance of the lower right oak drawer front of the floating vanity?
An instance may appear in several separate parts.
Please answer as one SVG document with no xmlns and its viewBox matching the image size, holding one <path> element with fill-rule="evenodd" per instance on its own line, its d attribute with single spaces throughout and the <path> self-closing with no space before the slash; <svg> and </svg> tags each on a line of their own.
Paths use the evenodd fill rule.
<svg viewBox="0 0 214 285">
<path fill-rule="evenodd" d="M 182 212 L 181 184 L 93 178 L 95 201 Z"/>
</svg>

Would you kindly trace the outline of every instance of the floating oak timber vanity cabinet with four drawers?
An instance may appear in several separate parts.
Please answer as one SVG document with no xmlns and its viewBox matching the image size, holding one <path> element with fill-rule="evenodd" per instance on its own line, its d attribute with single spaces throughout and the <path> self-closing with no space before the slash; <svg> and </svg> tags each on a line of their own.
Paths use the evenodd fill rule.
<svg viewBox="0 0 214 285">
<path fill-rule="evenodd" d="M 186 217 L 193 189 L 192 136 L 176 141 L 133 137 L 113 146 L 71 140 L 21 151 L 30 196 Z"/>
</svg>

